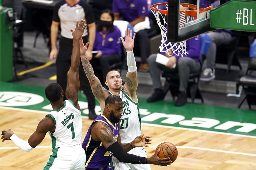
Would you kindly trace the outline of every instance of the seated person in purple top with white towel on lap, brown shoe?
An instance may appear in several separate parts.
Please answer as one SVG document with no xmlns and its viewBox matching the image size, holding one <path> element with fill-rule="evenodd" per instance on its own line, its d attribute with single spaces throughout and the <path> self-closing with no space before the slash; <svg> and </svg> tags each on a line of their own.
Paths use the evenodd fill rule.
<svg viewBox="0 0 256 170">
<path fill-rule="evenodd" d="M 128 21 L 139 38 L 141 64 L 140 70 L 147 70 L 149 55 L 148 31 L 150 22 L 148 18 L 147 0 L 113 0 L 112 9 L 115 20 Z"/>
</svg>

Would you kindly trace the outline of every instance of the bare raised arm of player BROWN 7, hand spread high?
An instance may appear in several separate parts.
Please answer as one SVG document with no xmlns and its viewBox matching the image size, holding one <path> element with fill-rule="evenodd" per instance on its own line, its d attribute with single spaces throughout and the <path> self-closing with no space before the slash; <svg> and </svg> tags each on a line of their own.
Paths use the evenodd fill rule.
<svg viewBox="0 0 256 170">
<path fill-rule="evenodd" d="M 80 45 L 79 39 L 84 33 L 84 29 L 86 27 L 85 20 L 81 20 L 80 23 L 76 21 L 76 29 L 75 31 L 70 29 L 73 35 L 73 49 L 71 55 L 71 67 L 68 73 L 68 88 L 66 90 L 66 98 L 70 99 L 78 109 L 80 109 L 78 104 L 78 91 L 79 91 L 79 65 L 80 65 Z M 86 44 L 86 47 L 88 43 Z"/>
</svg>

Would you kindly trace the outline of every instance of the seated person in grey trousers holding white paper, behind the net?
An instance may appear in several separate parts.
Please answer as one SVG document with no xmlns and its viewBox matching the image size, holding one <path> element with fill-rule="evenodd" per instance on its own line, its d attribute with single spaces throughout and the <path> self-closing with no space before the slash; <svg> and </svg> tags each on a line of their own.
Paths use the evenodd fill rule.
<svg viewBox="0 0 256 170">
<path fill-rule="evenodd" d="M 164 93 L 160 81 L 161 71 L 164 72 L 178 72 L 180 78 L 180 86 L 178 98 L 175 102 L 176 106 L 183 106 L 187 103 L 187 86 L 190 73 L 200 71 L 200 41 L 199 36 L 187 40 L 187 56 L 169 56 L 168 52 L 162 53 L 169 57 L 166 65 L 156 63 L 157 54 L 152 54 L 148 58 L 149 72 L 153 81 L 153 94 L 147 99 L 147 102 L 155 102 L 164 99 Z M 176 67 L 173 66 L 176 64 Z"/>
</svg>

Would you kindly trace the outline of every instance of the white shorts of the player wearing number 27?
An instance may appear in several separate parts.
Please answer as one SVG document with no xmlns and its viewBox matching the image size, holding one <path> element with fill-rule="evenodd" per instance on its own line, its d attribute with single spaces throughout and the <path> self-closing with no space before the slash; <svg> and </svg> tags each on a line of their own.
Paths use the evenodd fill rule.
<svg viewBox="0 0 256 170">
<path fill-rule="evenodd" d="M 133 148 L 131 151 L 127 153 L 145 157 L 145 158 L 148 157 L 144 147 Z M 116 159 L 116 157 L 114 156 L 112 156 L 112 163 L 114 166 L 114 170 L 151 170 L 151 167 L 149 164 L 130 164 L 130 163 L 119 162 L 119 160 Z"/>
</svg>

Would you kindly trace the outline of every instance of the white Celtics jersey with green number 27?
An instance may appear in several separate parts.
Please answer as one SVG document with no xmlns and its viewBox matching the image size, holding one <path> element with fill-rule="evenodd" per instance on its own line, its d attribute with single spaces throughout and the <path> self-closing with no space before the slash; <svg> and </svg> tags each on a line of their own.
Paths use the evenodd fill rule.
<svg viewBox="0 0 256 170">
<path fill-rule="evenodd" d="M 120 135 L 122 144 L 127 144 L 141 135 L 139 103 L 133 101 L 123 90 L 120 91 L 119 97 L 123 101 Z"/>
</svg>

